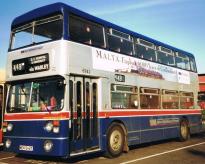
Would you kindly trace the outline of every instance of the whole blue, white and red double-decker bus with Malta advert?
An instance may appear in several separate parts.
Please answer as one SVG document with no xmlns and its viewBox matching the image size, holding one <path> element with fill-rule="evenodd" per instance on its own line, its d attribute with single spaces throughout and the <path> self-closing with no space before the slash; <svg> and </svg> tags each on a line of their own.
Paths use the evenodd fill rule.
<svg viewBox="0 0 205 164">
<path fill-rule="evenodd" d="M 191 53 L 62 3 L 12 22 L 6 151 L 106 152 L 202 130 Z"/>
</svg>

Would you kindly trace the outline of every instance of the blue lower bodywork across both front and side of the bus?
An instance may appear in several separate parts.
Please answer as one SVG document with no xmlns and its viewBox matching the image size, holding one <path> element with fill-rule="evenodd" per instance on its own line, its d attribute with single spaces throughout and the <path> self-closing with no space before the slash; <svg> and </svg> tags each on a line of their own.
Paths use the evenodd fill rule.
<svg viewBox="0 0 205 164">
<path fill-rule="evenodd" d="M 190 132 L 197 133 L 201 130 L 201 116 L 185 116 L 190 124 Z M 183 116 L 145 116 L 145 117 L 121 117 L 121 118 L 100 118 L 99 119 L 99 150 L 106 150 L 107 129 L 113 121 L 122 122 L 128 132 L 128 145 L 135 145 L 162 139 L 179 137 L 180 120 Z M 157 122 L 158 121 L 158 122 Z M 69 124 L 68 120 L 60 121 L 60 133 L 46 132 L 42 121 L 8 121 L 14 123 L 13 131 L 6 132 L 6 139 L 12 141 L 12 146 L 7 151 L 26 154 L 48 155 L 48 156 L 67 156 L 69 155 Z M 20 136 L 20 137 L 19 137 Z M 152 137 L 150 137 L 152 136 Z M 45 152 L 43 143 L 45 140 L 52 140 L 54 148 L 51 152 Z M 82 145 L 81 141 L 75 141 L 76 148 Z M 20 145 L 33 146 L 33 151 L 19 150 Z"/>
</svg>

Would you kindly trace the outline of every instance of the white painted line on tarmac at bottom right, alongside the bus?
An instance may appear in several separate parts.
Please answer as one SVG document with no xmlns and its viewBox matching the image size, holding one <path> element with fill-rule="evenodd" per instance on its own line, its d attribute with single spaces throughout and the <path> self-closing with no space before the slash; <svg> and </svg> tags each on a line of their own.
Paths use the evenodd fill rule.
<svg viewBox="0 0 205 164">
<path fill-rule="evenodd" d="M 172 153 L 172 152 L 175 152 L 175 151 L 184 150 L 184 149 L 187 149 L 187 148 L 190 148 L 190 147 L 195 147 L 195 146 L 204 145 L 204 144 L 205 144 L 205 142 L 200 142 L 200 143 L 197 143 L 197 144 L 194 144 L 194 145 L 189 145 L 189 146 L 185 146 L 185 147 L 165 151 L 165 152 L 158 153 L 158 154 L 153 154 L 153 155 L 149 155 L 149 156 L 146 156 L 146 157 L 133 159 L 133 160 L 130 160 L 130 161 L 127 161 L 127 162 L 122 162 L 120 164 L 128 164 L 128 163 L 138 162 L 138 161 L 142 161 L 144 159 L 153 158 L 153 157 L 156 157 L 156 156 L 160 156 L 160 155 L 164 155 L 164 154 L 168 154 L 168 153 Z"/>
</svg>

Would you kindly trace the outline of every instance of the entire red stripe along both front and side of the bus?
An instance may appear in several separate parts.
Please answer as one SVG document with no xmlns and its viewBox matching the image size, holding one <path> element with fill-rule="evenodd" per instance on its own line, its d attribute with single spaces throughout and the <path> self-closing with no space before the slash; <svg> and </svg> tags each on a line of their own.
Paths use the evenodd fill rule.
<svg viewBox="0 0 205 164">
<path fill-rule="evenodd" d="M 81 117 L 85 118 L 86 113 L 82 112 Z M 134 117 L 134 116 L 163 116 L 163 115 L 190 115 L 190 114 L 201 114 L 201 110 L 159 110 L 159 109 L 148 109 L 148 110 L 127 110 L 122 111 L 121 109 L 115 109 L 112 111 L 100 111 L 98 112 L 98 117 L 108 118 L 108 117 Z M 91 118 L 93 117 L 93 112 L 90 112 Z M 55 120 L 55 119 L 68 119 L 70 118 L 69 112 L 48 112 L 48 113 L 14 113 L 14 114 L 5 114 L 5 121 L 8 120 Z M 73 113 L 73 118 L 77 119 L 77 112 Z"/>
</svg>

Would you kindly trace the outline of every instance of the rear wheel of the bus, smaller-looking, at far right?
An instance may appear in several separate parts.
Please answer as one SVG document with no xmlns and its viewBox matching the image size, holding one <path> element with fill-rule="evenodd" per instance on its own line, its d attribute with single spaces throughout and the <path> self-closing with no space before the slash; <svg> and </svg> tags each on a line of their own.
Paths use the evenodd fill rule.
<svg viewBox="0 0 205 164">
<path fill-rule="evenodd" d="M 180 141 L 186 141 L 190 137 L 188 121 L 183 119 L 180 122 Z"/>
</svg>

